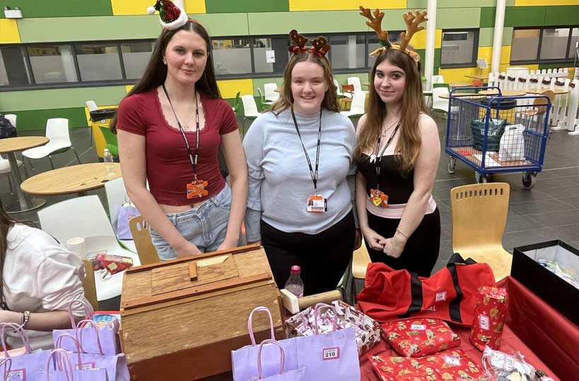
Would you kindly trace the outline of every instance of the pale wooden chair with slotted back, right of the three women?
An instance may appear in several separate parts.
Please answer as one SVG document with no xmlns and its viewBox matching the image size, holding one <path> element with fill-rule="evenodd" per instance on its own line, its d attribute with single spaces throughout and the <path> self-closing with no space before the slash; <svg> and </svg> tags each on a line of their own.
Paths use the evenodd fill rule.
<svg viewBox="0 0 579 381">
<path fill-rule="evenodd" d="M 510 274 L 513 262 L 513 255 L 503 248 L 509 193 L 508 183 L 457 186 L 450 191 L 452 251 L 488 263 L 496 280 Z"/>
</svg>

